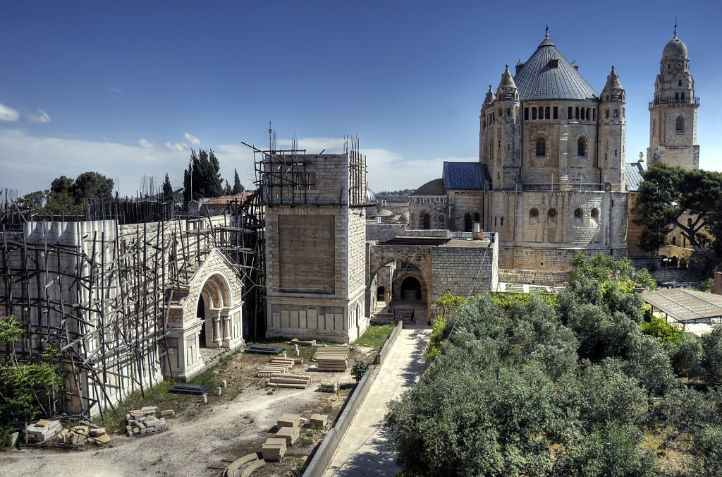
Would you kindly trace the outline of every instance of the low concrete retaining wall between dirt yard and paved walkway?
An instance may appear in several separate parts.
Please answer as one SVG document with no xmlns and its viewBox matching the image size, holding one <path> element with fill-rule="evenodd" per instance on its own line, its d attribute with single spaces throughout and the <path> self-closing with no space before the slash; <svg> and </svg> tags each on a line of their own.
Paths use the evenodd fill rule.
<svg viewBox="0 0 722 477">
<path fill-rule="evenodd" d="M 399 334 L 401 333 L 401 328 L 403 326 L 404 323 L 399 322 L 399 324 L 393 329 L 393 332 L 391 332 L 391 336 L 389 336 L 388 340 L 386 340 L 386 343 L 384 343 L 383 347 L 381 347 L 378 355 L 376 355 L 374 364 L 369 366 L 368 372 L 361 378 L 359 384 L 356 385 L 356 389 L 346 403 L 344 411 L 341 413 L 338 420 L 336 420 L 336 425 L 331 428 L 329 434 L 326 434 L 323 442 L 321 442 L 321 445 L 318 446 L 318 449 L 316 449 L 316 453 L 313 455 L 308 467 L 306 467 L 303 471 L 304 476 L 322 477 L 323 473 L 326 472 L 326 469 L 329 468 L 331 459 L 334 458 L 334 454 L 336 453 L 336 449 L 339 448 L 339 444 L 341 444 L 341 441 L 344 439 L 346 431 L 349 429 L 349 426 L 354 420 L 354 416 L 356 416 L 361 403 L 363 403 L 363 400 L 368 394 L 368 390 L 371 389 L 371 385 L 378 376 L 378 371 L 380 369 L 380 364 L 383 363 L 383 358 L 385 358 L 388 351 L 391 351 L 391 348 L 393 348 L 393 343 L 396 342 L 396 338 L 399 338 Z M 377 361 L 379 361 L 378 366 Z"/>
</svg>

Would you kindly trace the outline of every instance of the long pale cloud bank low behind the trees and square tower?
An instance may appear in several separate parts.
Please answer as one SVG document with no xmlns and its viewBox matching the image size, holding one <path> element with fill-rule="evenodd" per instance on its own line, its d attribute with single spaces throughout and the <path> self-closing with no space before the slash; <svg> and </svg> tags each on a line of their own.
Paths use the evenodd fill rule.
<svg viewBox="0 0 722 477">
<path fill-rule="evenodd" d="M 147 139 L 146 139 L 147 140 Z M 149 142 L 149 144 L 153 144 Z M 286 142 L 279 140 L 279 145 Z M 290 141 L 287 142 L 290 145 Z M 300 147 L 318 154 L 343 151 L 343 139 L 299 139 Z M 285 146 L 284 146 L 285 147 Z M 255 189 L 253 181 L 253 150 L 238 144 L 214 147 L 224 179 L 232 182 L 233 169 L 238 169 L 241 183 Z M 477 158 L 407 159 L 399 152 L 385 149 L 361 149 L 366 156 L 368 186 L 375 192 L 415 189 L 441 176 L 444 160 L 475 162 Z M 51 181 L 65 175 L 77 177 L 85 171 L 97 171 L 116 181 L 121 195 L 135 195 L 139 178 L 153 176 L 162 181 L 168 173 L 170 182 L 183 185 L 183 170 L 188 166 L 187 146 L 170 142 L 165 147 L 121 145 L 108 141 L 86 141 L 36 137 L 20 129 L 0 129 L 0 189 L 12 187 L 27 194 L 48 189 Z"/>
</svg>

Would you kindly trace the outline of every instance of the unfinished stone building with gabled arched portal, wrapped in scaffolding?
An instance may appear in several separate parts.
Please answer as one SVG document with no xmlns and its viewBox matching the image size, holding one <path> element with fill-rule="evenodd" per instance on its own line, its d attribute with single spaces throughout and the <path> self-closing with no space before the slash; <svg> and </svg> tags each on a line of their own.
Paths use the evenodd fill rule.
<svg viewBox="0 0 722 477">
<path fill-rule="evenodd" d="M 247 222 L 24 222 L 4 231 L 0 313 L 25 326 L 17 356 L 33 362 L 51 343 L 62 353 L 65 386 L 52 413 L 102 412 L 163 377 L 191 379 L 243 345 Z"/>
</svg>

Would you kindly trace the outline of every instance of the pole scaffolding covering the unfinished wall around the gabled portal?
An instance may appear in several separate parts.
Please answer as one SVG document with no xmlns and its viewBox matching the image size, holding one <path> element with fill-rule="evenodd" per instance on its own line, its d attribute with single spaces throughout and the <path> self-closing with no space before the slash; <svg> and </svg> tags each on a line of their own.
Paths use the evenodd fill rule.
<svg viewBox="0 0 722 477">
<path fill-rule="evenodd" d="M 24 324 L 17 358 L 37 362 L 51 343 L 63 356 L 64 390 L 48 400 L 46 416 L 90 419 L 164 375 L 173 377 L 169 311 L 214 249 L 243 281 L 243 335 L 255 339 L 264 331 L 257 325 L 265 324 L 257 194 L 206 218 L 169 218 L 172 207 L 160 201 L 86 207 L 96 220 L 31 222 L 14 199 L 0 205 L 0 313 Z M 2 353 L 9 349 L 0 345 Z"/>
</svg>

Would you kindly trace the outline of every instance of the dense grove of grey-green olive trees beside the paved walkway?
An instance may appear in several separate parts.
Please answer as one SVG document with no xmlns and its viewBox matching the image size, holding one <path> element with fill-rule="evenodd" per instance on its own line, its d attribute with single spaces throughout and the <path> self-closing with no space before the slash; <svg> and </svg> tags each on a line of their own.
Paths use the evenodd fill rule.
<svg viewBox="0 0 722 477">
<path fill-rule="evenodd" d="M 625 262 L 575 265 L 556 299 L 458 298 L 391 403 L 403 475 L 722 474 L 722 328 L 654 319 Z"/>
</svg>

